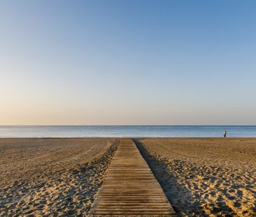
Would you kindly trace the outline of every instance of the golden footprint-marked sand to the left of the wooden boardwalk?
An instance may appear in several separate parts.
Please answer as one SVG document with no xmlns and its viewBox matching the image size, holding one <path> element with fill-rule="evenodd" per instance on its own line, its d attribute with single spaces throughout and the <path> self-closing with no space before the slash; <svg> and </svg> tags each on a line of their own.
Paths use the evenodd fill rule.
<svg viewBox="0 0 256 217">
<path fill-rule="evenodd" d="M 85 216 L 118 140 L 0 139 L 0 216 Z"/>
</svg>

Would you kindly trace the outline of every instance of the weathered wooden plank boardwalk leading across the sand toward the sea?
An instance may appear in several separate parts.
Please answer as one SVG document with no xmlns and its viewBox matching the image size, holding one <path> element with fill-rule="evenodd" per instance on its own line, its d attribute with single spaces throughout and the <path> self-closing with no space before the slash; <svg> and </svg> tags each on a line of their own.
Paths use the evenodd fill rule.
<svg viewBox="0 0 256 217">
<path fill-rule="evenodd" d="M 91 216 L 176 216 L 132 140 L 120 140 Z"/>
</svg>

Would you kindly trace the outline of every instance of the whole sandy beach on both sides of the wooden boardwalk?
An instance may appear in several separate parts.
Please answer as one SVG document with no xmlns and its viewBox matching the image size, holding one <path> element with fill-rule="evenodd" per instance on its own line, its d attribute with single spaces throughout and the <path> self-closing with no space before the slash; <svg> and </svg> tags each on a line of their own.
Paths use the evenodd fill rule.
<svg viewBox="0 0 256 217">
<path fill-rule="evenodd" d="M 255 138 L 134 139 L 178 216 L 255 216 Z M 0 216 L 88 216 L 115 138 L 1 138 Z"/>
</svg>

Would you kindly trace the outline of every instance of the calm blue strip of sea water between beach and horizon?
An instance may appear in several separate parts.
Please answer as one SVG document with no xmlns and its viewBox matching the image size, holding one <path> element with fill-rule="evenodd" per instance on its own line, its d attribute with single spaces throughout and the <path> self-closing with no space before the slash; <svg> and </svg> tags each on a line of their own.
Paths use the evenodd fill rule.
<svg viewBox="0 0 256 217">
<path fill-rule="evenodd" d="M 256 137 L 256 126 L 0 126 L 0 137 Z"/>
</svg>

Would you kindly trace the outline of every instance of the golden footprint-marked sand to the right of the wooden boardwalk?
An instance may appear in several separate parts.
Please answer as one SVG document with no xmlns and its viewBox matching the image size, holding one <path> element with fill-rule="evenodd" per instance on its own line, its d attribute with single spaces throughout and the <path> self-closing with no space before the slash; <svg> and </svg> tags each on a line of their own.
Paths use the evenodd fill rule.
<svg viewBox="0 0 256 217">
<path fill-rule="evenodd" d="M 178 216 L 256 216 L 256 139 L 135 141 Z"/>
</svg>

